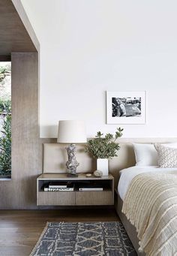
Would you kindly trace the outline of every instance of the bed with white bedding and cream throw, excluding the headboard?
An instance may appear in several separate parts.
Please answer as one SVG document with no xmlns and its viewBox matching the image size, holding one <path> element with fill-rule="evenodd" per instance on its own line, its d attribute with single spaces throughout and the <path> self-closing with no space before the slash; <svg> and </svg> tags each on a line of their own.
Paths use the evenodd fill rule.
<svg viewBox="0 0 177 256">
<path fill-rule="evenodd" d="M 115 208 L 138 255 L 145 255 L 144 251 L 153 256 L 175 255 L 177 254 L 177 167 L 158 167 L 159 155 L 154 151 L 154 145 L 151 145 L 151 148 L 153 152 L 148 150 L 150 156 L 149 152 L 144 152 L 148 161 L 145 158 L 146 162 L 142 161 L 139 164 L 139 159 L 142 158 L 136 155 L 137 165 L 120 171 Z M 172 150 L 170 149 L 170 152 Z M 174 149 L 173 153 L 176 161 L 177 149 Z M 171 165 L 174 164 L 176 166 L 176 163 Z M 155 193 L 158 193 L 157 196 Z M 139 199 L 140 197 L 142 198 Z M 144 198 L 145 200 L 142 200 Z M 141 237 L 140 243 L 138 236 Z"/>
</svg>

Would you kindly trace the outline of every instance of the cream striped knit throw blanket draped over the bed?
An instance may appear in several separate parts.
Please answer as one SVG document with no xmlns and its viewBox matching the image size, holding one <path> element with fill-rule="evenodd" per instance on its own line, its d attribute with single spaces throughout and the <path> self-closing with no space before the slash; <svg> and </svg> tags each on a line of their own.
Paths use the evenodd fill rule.
<svg viewBox="0 0 177 256">
<path fill-rule="evenodd" d="M 136 227 L 139 251 L 177 255 L 177 170 L 134 177 L 121 211 Z"/>
</svg>

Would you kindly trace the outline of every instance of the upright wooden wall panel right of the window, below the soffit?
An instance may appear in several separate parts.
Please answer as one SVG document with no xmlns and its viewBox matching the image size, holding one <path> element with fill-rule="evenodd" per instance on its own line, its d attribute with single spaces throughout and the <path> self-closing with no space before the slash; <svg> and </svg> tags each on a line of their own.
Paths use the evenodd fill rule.
<svg viewBox="0 0 177 256">
<path fill-rule="evenodd" d="M 36 177 L 42 169 L 37 58 L 37 53 L 11 56 L 12 179 L 0 181 L 1 209 L 36 208 Z"/>
</svg>

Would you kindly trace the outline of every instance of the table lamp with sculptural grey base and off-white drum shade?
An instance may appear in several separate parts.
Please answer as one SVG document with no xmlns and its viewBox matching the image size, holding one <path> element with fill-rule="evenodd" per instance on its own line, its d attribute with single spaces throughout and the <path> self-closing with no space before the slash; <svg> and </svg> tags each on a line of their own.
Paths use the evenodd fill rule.
<svg viewBox="0 0 177 256">
<path fill-rule="evenodd" d="M 70 143 L 66 147 L 68 152 L 68 161 L 66 167 L 68 176 L 77 176 L 77 167 L 80 165 L 77 162 L 75 155 L 75 143 L 86 143 L 86 128 L 83 121 L 77 120 L 62 120 L 58 122 L 58 143 Z"/>
</svg>

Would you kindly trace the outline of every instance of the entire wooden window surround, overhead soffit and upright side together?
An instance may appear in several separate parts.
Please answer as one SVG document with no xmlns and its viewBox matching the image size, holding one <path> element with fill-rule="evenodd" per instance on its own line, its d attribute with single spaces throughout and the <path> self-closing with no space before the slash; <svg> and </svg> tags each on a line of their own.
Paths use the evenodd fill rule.
<svg viewBox="0 0 177 256">
<path fill-rule="evenodd" d="M 38 125 L 40 45 L 20 0 L 0 0 L 0 13 L 1 61 L 10 59 L 13 52 L 12 179 L 0 180 L 0 209 L 36 209 L 43 143 Z"/>
</svg>

